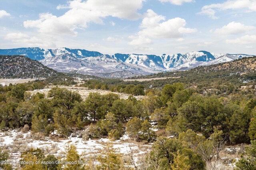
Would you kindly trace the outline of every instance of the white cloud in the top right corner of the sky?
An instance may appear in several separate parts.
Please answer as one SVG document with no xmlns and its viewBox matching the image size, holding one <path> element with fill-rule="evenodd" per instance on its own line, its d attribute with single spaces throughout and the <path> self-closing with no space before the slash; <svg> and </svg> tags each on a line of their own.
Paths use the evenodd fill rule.
<svg viewBox="0 0 256 170">
<path fill-rule="evenodd" d="M 256 11 L 255 0 L 228 0 L 224 3 L 210 4 L 202 7 L 201 12 L 198 14 L 208 15 L 212 19 L 217 19 L 215 16 L 216 11 L 224 10 L 240 10 L 244 9 L 244 12 Z"/>
</svg>

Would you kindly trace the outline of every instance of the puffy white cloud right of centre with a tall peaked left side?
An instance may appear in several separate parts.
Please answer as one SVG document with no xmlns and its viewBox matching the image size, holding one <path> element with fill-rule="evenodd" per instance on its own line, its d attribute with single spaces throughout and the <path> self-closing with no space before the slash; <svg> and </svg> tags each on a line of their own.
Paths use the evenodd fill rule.
<svg viewBox="0 0 256 170">
<path fill-rule="evenodd" d="M 197 31 L 194 28 L 185 28 L 186 20 L 182 18 L 173 18 L 167 21 L 165 19 L 165 16 L 158 15 L 153 10 L 147 10 L 140 24 L 142 30 L 137 33 L 138 36 L 135 36 L 130 44 L 139 45 L 139 42 L 143 43 L 142 39 L 147 39 L 149 42 L 149 38 L 179 38 L 184 33 Z"/>
</svg>

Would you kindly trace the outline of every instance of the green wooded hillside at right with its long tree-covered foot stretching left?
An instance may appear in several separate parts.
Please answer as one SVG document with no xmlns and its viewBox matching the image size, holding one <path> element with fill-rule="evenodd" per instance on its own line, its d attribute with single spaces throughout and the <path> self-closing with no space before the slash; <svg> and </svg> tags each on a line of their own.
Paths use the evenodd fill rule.
<svg viewBox="0 0 256 170">
<path fill-rule="evenodd" d="M 165 72 L 148 76 L 132 77 L 131 79 L 144 79 L 166 77 L 166 79 L 150 81 L 123 81 L 120 79 L 88 80 L 81 86 L 100 88 L 108 87 L 112 92 L 125 92 L 127 85 L 143 85 L 145 89 L 161 89 L 165 84 L 177 82 L 184 83 L 186 88 L 195 88 L 197 92 L 223 93 L 237 91 L 243 85 L 255 85 L 256 57 L 242 58 L 236 61 L 200 66 L 187 71 Z"/>
</svg>

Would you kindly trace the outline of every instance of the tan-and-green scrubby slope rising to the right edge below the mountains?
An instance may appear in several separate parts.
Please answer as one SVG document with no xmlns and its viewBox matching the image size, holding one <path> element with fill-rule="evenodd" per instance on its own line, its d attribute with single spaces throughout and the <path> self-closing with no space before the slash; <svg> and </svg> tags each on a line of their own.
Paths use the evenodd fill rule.
<svg viewBox="0 0 256 170">
<path fill-rule="evenodd" d="M 164 84 L 182 82 L 185 86 L 200 86 L 202 88 L 216 88 L 217 84 L 241 85 L 256 80 L 256 57 L 237 59 L 232 62 L 213 64 L 210 66 L 198 66 L 191 70 L 161 72 L 147 76 L 136 76 L 130 79 L 166 77 L 161 80 L 144 82 L 126 82 L 128 84 L 142 83 L 146 88 L 163 87 Z M 167 78 L 173 77 L 173 78 Z"/>
</svg>

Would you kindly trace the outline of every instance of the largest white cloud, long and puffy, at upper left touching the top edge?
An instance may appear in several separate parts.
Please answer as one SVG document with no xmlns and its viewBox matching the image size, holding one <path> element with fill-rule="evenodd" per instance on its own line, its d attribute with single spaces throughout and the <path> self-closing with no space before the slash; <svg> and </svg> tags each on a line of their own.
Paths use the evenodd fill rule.
<svg viewBox="0 0 256 170">
<path fill-rule="evenodd" d="M 62 16 L 54 16 L 50 13 L 39 15 L 38 20 L 23 22 L 24 27 L 37 28 L 40 33 L 77 35 L 76 29 L 88 27 L 88 23 L 102 24 L 103 18 L 108 16 L 137 20 L 140 14 L 137 10 L 142 8 L 143 0 L 123 0 L 122 2 L 106 0 L 82 0 L 69 1 L 67 6 L 59 5 L 57 9 L 68 8 Z"/>
</svg>

